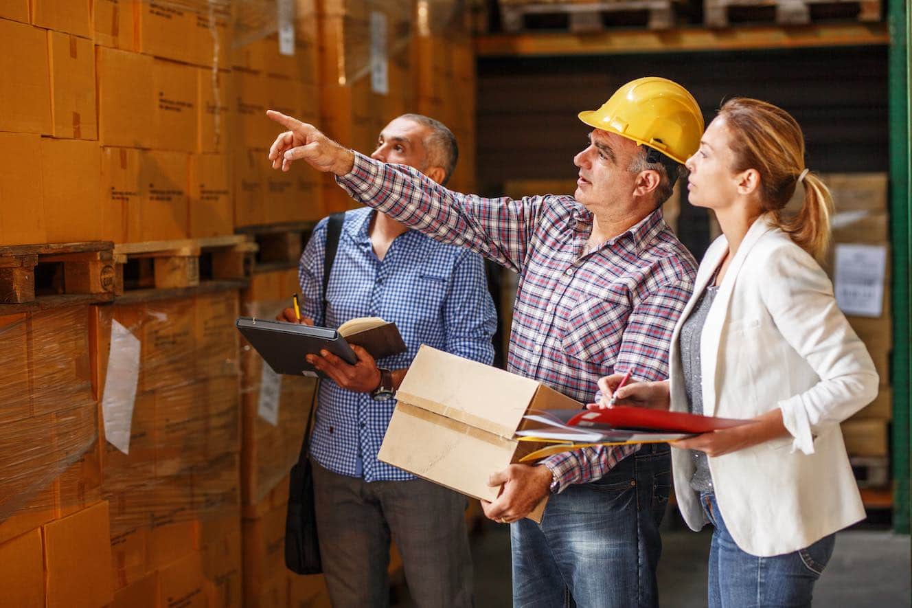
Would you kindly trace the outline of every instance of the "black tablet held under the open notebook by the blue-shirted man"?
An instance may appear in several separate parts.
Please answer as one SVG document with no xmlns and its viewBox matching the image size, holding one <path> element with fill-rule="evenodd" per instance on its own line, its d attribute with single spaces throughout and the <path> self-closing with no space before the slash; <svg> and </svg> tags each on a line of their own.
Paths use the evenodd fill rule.
<svg viewBox="0 0 912 608">
<path fill-rule="evenodd" d="M 352 365 L 358 362 L 358 355 L 337 330 L 250 317 L 238 318 L 236 325 L 276 373 L 325 377 L 305 359 L 308 354 L 319 354 L 322 349 Z"/>
</svg>

